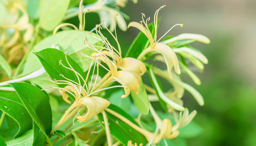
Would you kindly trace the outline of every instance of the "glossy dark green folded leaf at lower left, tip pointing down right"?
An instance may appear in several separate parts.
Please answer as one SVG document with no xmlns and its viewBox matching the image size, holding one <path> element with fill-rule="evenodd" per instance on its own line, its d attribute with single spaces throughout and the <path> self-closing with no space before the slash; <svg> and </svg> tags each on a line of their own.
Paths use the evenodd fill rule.
<svg viewBox="0 0 256 146">
<path fill-rule="evenodd" d="M 52 130 L 52 111 L 48 97 L 41 89 L 28 83 L 11 83 L 23 105 L 37 126 L 44 132 L 46 142 L 52 145 L 48 135 Z"/>
</svg>

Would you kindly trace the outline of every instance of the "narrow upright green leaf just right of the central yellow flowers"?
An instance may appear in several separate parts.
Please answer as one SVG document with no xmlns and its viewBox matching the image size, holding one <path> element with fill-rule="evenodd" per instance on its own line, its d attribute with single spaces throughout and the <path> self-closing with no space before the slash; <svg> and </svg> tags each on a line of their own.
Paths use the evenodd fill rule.
<svg viewBox="0 0 256 146">
<path fill-rule="evenodd" d="M 165 101 L 163 101 L 161 96 L 160 96 L 161 94 L 163 94 L 162 85 L 161 85 L 159 79 L 155 76 L 155 74 L 153 72 L 153 69 L 151 67 L 148 69 L 148 75 L 149 75 L 149 78 L 150 78 L 150 82 L 153 85 L 153 87 L 155 89 L 155 92 L 157 93 L 159 103 L 162 105 L 163 110 L 167 111 L 167 105 L 166 105 Z"/>
</svg>

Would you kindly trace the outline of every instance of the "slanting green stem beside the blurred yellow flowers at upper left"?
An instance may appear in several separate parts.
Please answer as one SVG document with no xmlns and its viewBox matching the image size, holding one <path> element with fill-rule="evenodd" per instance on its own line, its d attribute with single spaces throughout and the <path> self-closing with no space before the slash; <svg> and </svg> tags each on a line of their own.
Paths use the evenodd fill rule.
<svg viewBox="0 0 256 146">
<path fill-rule="evenodd" d="M 33 49 L 33 46 L 35 45 L 35 41 L 38 37 L 38 34 L 39 34 L 39 25 L 35 26 L 35 34 L 34 34 L 34 37 L 33 37 L 33 40 L 31 41 L 30 43 L 30 46 L 29 46 L 29 49 L 27 50 L 26 54 L 23 56 L 23 58 L 21 59 L 19 65 L 17 66 L 16 68 L 16 72 L 14 74 L 14 78 L 16 78 L 16 76 L 18 75 L 22 65 L 25 63 L 29 53 L 31 52 L 31 50 Z"/>
</svg>

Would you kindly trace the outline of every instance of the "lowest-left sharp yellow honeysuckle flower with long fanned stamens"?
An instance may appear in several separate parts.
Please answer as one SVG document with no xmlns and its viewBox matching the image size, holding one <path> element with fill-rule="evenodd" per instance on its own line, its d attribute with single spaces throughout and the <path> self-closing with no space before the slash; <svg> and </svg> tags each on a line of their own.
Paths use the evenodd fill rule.
<svg viewBox="0 0 256 146">
<path fill-rule="evenodd" d="M 86 79 L 84 79 L 69 64 L 68 59 L 67 59 L 67 52 L 65 52 L 64 54 L 65 54 L 66 61 L 69 66 L 63 65 L 61 60 L 60 60 L 60 65 L 62 65 L 66 69 L 72 70 L 74 72 L 74 74 L 76 75 L 78 82 L 70 80 L 69 78 L 65 77 L 62 74 L 60 74 L 60 76 L 63 77 L 64 80 L 55 80 L 55 79 L 52 80 L 51 78 L 49 78 L 50 81 L 53 82 L 54 84 L 65 85 L 64 88 L 54 87 L 53 85 L 50 86 L 50 89 L 60 89 L 62 91 L 61 94 L 62 94 L 63 100 L 65 100 L 67 103 L 71 103 L 68 100 L 67 93 L 69 93 L 69 95 L 73 96 L 75 99 L 74 102 L 72 103 L 72 105 L 65 112 L 63 117 L 60 119 L 60 121 L 56 124 L 56 126 L 54 126 L 51 133 L 53 133 L 55 130 L 57 130 L 57 128 L 60 127 L 61 124 L 63 124 L 69 118 L 71 118 L 71 116 L 73 116 L 74 114 L 79 112 L 80 109 L 83 107 L 87 107 L 87 113 L 85 115 L 75 116 L 75 118 L 78 119 L 79 122 L 86 122 L 87 120 L 90 120 L 95 114 L 98 114 L 99 112 L 101 112 L 105 108 L 107 108 L 110 105 L 110 102 L 106 99 L 103 99 L 103 98 L 95 95 L 99 91 L 103 91 L 105 89 L 110 89 L 110 88 L 116 88 L 116 87 L 124 88 L 124 86 L 112 86 L 112 87 L 108 87 L 108 88 L 98 87 L 96 89 L 95 84 L 97 83 L 97 80 L 98 80 L 98 64 L 99 64 L 98 58 L 99 57 L 96 57 L 92 60 L 89 71 L 87 73 L 87 77 L 86 77 Z M 91 81 L 88 82 L 87 80 L 88 80 L 88 76 L 90 74 L 90 70 L 91 70 L 93 62 L 95 62 L 94 68 L 93 68 L 93 75 L 91 77 Z M 94 71 L 96 68 L 97 68 L 97 73 L 96 73 L 96 76 L 93 77 Z M 102 79 L 104 79 L 105 81 L 107 80 L 106 78 L 102 78 Z M 49 89 L 44 89 L 44 90 L 49 90 Z"/>
</svg>

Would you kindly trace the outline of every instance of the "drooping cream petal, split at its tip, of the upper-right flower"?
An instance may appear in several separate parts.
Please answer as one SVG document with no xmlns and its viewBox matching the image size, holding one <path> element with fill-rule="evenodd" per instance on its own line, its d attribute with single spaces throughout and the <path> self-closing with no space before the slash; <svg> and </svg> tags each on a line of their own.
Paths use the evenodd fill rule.
<svg viewBox="0 0 256 146">
<path fill-rule="evenodd" d="M 169 46 L 163 43 L 157 43 L 153 48 L 153 50 L 157 51 L 158 53 L 161 53 L 165 58 L 165 62 L 167 65 L 167 73 L 170 78 L 172 78 L 171 73 L 172 73 L 173 66 L 177 74 L 181 73 L 180 66 L 178 64 L 178 57 Z"/>
</svg>

